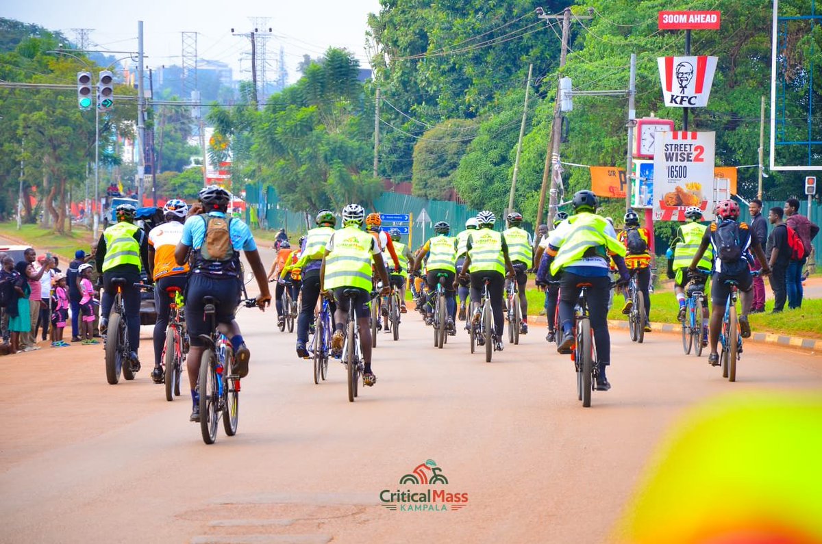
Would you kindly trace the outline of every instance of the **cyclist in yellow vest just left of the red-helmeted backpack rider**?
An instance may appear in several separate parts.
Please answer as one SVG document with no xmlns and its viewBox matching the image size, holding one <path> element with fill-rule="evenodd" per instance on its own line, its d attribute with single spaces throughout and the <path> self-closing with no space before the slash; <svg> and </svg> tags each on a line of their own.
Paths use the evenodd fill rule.
<svg viewBox="0 0 822 544">
<path fill-rule="evenodd" d="M 702 210 L 698 206 L 688 206 L 685 210 L 686 223 L 677 228 L 677 236 L 671 241 L 671 247 L 667 250 L 666 256 L 668 258 L 668 277 L 674 279 L 673 291 L 677 295 L 677 302 L 679 303 L 678 320 L 685 319 L 685 287 L 688 284 L 686 269 L 690 266 L 690 261 L 696 255 L 697 248 L 700 247 L 700 242 L 705 235 L 707 226 L 700 224 L 702 220 Z M 711 261 L 713 260 L 713 251 L 711 248 L 705 250 L 705 254 L 700 259 L 698 270 L 702 274 L 702 278 L 695 281 L 695 285 L 701 285 L 699 290 L 704 293 L 704 285 L 711 274 Z M 702 308 L 702 343 L 708 345 L 708 307 Z"/>
</svg>

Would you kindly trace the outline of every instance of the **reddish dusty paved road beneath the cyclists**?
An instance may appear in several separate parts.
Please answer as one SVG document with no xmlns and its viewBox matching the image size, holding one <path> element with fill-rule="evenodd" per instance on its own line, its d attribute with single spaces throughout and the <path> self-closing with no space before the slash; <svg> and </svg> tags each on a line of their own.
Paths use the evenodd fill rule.
<svg viewBox="0 0 822 544">
<path fill-rule="evenodd" d="M 314 385 L 272 314 L 240 314 L 239 432 L 210 446 L 190 400 L 167 403 L 149 369 L 107 385 L 99 346 L 0 359 L 0 542 L 603 542 L 686 408 L 822 390 L 818 355 L 752 346 L 730 384 L 674 335 L 637 346 L 617 331 L 613 389 L 584 409 L 544 329 L 489 364 L 464 334 L 434 349 L 413 314 L 398 343 L 379 339 L 379 382 L 349 403 L 343 368 Z M 381 491 L 408 489 L 399 478 L 427 459 L 467 506 L 383 508 Z"/>
</svg>

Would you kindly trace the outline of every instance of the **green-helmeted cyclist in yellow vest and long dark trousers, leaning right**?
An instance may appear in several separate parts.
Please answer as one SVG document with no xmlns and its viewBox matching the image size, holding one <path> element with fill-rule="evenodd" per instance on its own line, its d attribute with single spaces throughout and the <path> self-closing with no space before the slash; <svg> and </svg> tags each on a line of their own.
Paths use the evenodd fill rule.
<svg viewBox="0 0 822 544">
<path fill-rule="evenodd" d="M 302 273 L 302 304 L 297 318 L 297 357 L 308 357 L 308 330 L 314 323 L 314 308 L 320 297 L 320 266 L 326 255 L 326 244 L 334 233 L 337 218 L 331 210 L 320 210 L 312 228 L 302 242 L 302 256 L 296 266 Z"/>
</svg>

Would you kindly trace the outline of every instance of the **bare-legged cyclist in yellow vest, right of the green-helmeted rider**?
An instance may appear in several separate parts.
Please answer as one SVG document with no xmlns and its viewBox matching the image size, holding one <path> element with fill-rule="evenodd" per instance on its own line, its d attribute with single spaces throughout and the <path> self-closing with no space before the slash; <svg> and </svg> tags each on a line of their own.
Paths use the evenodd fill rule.
<svg viewBox="0 0 822 544">
<path fill-rule="evenodd" d="M 326 243 L 326 255 L 320 268 L 320 289 L 333 291 L 337 302 L 335 330 L 331 335 L 331 349 L 335 353 L 342 351 L 345 321 L 349 304 L 353 303 L 360 348 L 363 350 L 363 385 L 370 387 L 376 384 L 376 376 L 371 367 L 371 327 L 368 326 L 371 319 L 368 303 L 371 302 L 372 271 L 376 270 L 382 280 L 381 295 L 390 293 L 390 287 L 376 237 L 369 236 L 370 233 L 362 230 L 364 217 L 365 210 L 361 205 L 349 204 L 343 208 L 343 228 L 331 234 Z M 344 297 L 346 289 L 356 289 L 357 297 L 353 300 Z"/>
</svg>

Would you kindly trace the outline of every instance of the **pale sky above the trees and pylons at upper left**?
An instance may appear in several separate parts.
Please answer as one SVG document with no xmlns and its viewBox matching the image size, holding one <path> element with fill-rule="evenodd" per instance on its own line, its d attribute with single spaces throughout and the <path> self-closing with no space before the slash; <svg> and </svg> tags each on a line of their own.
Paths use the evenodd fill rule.
<svg viewBox="0 0 822 544">
<path fill-rule="evenodd" d="M 299 78 L 297 64 L 303 54 L 319 57 L 330 46 L 349 49 L 368 67 L 365 31 L 369 12 L 378 12 L 379 0 L 143 0 L 142 2 L 91 2 L 90 0 L 29 0 L 2 2 L 2 16 L 61 30 L 74 39 L 75 28 L 94 29 L 90 42 L 109 51 L 136 51 L 137 21 L 143 21 L 146 67 L 180 64 L 181 32 L 197 34 L 199 58 L 227 62 L 234 79 L 251 79 L 250 62 L 240 62 L 250 51 L 247 38 L 233 36 L 253 29 L 249 17 L 269 17 L 263 27 L 272 29 L 268 50 L 279 58 L 285 51 L 289 82 Z M 100 7 L 105 7 L 101 10 Z M 263 29 L 260 29 L 263 30 Z M 122 55 L 119 55 L 122 56 Z M 275 66 L 272 63 L 272 66 Z M 249 73 L 239 73 L 240 68 Z"/>
</svg>

